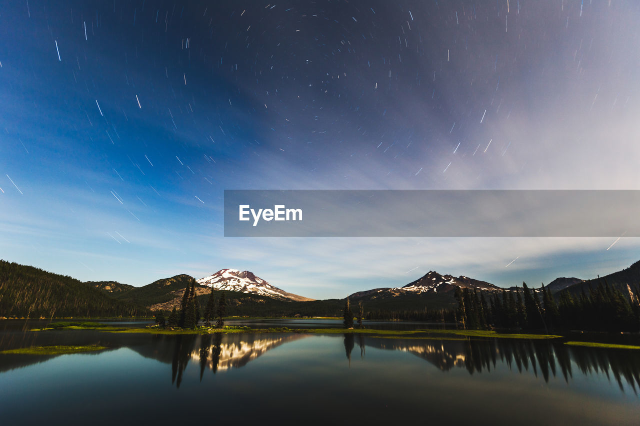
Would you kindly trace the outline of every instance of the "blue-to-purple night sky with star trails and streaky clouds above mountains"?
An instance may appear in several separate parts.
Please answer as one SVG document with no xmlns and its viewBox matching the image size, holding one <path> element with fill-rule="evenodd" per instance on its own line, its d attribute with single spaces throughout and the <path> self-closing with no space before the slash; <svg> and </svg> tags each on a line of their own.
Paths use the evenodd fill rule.
<svg viewBox="0 0 640 426">
<path fill-rule="evenodd" d="M 617 271 L 639 239 L 225 238 L 223 190 L 640 189 L 639 22 L 619 0 L 2 1 L 0 258 L 316 298 Z"/>
</svg>

